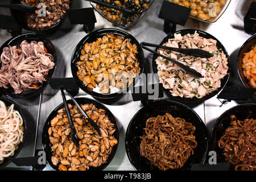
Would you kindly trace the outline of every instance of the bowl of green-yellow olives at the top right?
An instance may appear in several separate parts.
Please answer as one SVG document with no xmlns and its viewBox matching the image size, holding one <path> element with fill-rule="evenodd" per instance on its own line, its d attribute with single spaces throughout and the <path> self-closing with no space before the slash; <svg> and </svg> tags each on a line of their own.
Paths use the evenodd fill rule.
<svg viewBox="0 0 256 182">
<path fill-rule="evenodd" d="M 191 9 L 190 17 L 214 23 L 225 12 L 231 0 L 169 0 Z"/>
</svg>

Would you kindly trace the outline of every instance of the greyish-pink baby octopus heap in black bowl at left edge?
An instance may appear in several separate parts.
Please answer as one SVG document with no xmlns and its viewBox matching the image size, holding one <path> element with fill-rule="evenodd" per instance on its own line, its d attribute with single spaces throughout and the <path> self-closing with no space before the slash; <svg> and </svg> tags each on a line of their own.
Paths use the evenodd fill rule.
<svg viewBox="0 0 256 182">
<path fill-rule="evenodd" d="M 19 46 L 3 48 L 1 63 L 0 88 L 11 86 L 15 94 L 38 89 L 55 65 L 43 42 L 28 43 L 26 40 Z"/>
</svg>

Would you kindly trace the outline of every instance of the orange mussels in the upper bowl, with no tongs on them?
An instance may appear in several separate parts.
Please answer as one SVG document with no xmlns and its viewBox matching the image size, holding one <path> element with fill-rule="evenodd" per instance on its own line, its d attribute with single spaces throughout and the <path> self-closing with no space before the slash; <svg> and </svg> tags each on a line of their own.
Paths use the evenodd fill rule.
<svg viewBox="0 0 256 182">
<path fill-rule="evenodd" d="M 90 91 L 96 87 L 101 93 L 125 89 L 140 72 L 137 53 L 137 46 L 130 39 L 106 34 L 84 45 L 81 61 L 76 63 L 77 76 Z"/>
</svg>

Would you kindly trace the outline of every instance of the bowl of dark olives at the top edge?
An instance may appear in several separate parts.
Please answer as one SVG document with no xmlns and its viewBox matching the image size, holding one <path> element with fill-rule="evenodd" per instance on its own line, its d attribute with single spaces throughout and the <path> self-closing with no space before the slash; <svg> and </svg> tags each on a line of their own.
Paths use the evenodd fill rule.
<svg viewBox="0 0 256 182">
<path fill-rule="evenodd" d="M 90 3 L 92 7 L 105 19 L 116 26 L 122 28 L 130 28 L 138 22 L 139 19 L 150 8 L 154 0 L 101 0 L 102 2 L 109 3 L 113 6 L 122 6 L 126 9 L 135 11 L 135 14 L 126 14 L 120 10 L 115 10 L 110 7 L 101 6 L 98 4 Z"/>
</svg>

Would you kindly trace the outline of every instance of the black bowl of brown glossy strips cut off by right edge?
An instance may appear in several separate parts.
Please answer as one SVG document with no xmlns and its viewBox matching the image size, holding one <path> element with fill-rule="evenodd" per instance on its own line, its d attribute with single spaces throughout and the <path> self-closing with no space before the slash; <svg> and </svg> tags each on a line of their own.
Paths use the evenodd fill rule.
<svg viewBox="0 0 256 182">
<path fill-rule="evenodd" d="M 225 111 L 210 135 L 210 151 L 216 151 L 217 163 L 229 162 L 229 170 L 256 170 L 256 104 L 242 104 Z"/>
</svg>

